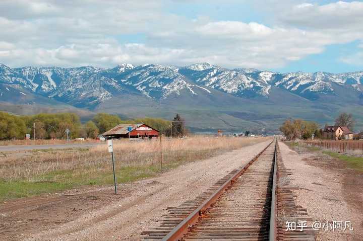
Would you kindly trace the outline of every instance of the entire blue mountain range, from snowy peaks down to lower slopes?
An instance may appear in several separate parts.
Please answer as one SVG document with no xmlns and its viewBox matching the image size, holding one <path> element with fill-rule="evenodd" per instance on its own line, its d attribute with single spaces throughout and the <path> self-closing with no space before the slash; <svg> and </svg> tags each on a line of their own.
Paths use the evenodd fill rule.
<svg viewBox="0 0 363 241">
<path fill-rule="evenodd" d="M 315 117 L 309 111 L 322 112 L 318 121 L 323 122 L 331 121 L 337 111 L 352 108 L 356 112 L 356 106 L 361 107 L 363 104 L 363 71 L 280 73 L 228 69 L 210 63 L 187 66 L 134 66 L 124 63 L 112 68 L 10 68 L 0 64 L 0 84 L 0 101 L 3 102 L 22 104 L 21 100 L 24 99 L 23 104 L 29 104 L 25 95 L 31 94 L 34 103 L 36 96 L 39 96 L 42 100 L 48 98 L 56 103 L 96 112 L 127 112 L 131 117 L 140 115 L 137 111 L 143 115 L 165 118 L 171 118 L 168 112 L 184 111 L 188 116 L 188 113 L 200 111 L 208 116 L 211 111 L 216 111 L 212 115 L 215 122 L 225 125 L 223 118 L 228 115 L 226 118 L 230 118 L 228 125 L 231 127 L 235 126 L 232 122 L 238 122 L 241 118 L 243 121 L 249 119 L 252 121 L 249 124 L 255 125 L 250 118 L 256 116 L 254 112 L 258 112 L 263 120 L 257 119 L 256 128 L 268 125 L 270 122 L 264 119 L 268 105 L 279 109 L 275 111 L 278 112 L 276 114 L 270 112 L 272 116 L 280 116 L 280 112 L 284 112 L 282 116 L 285 117 L 308 116 L 314 120 Z M 6 94 L 9 88 L 12 88 L 14 98 Z M 126 97 L 133 101 L 129 102 Z M 139 110 L 132 110 L 132 106 L 137 106 Z M 296 106 L 300 110 L 296 110 Z M 160 107 L 160 110 L 156 111 L 156 107 Z M 358 115 L 363 116 L 360 112 L 358 110 Z M 243 115 L 238 113 L 245 113 L 247 117 L 243 119 Z M 195 117 L 191 114 L 190 118 Z M 218 125 L 210 127 L 218 128 Z"/>
</svg>

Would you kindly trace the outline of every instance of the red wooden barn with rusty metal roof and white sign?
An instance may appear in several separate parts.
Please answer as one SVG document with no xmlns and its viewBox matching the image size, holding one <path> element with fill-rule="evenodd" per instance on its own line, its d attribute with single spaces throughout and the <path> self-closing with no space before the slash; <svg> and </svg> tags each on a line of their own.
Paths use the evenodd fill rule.
<svg viewBox="0 0 363 241">
<path fill-rule="evenodd" d="M 107 139 L 118 138 L 157 138 L 159 131 L 144 124 L 120 124 L 102 134 Z"/>
</svg>

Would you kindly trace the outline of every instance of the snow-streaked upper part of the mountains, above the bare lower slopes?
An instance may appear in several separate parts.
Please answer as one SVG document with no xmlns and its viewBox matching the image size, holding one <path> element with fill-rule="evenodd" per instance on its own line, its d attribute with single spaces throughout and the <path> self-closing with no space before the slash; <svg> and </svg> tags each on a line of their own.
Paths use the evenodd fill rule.
<svg viewBox="0 0 363 241">
<path fill-rule="evenodd" d="M 93 107 L 125 93 L 153 100 L 170 96 L 212 95 L 212 89 L 238 98 L 269 98 L 275 88 L 308 100 L 339 95 L 344 90 L 363 96 L 363 71 L 348 73 L 278 73 L 257 69 L 227 69 L 209 63 L 185 67 L 129 63 L 114 68 L 92 66 L 21 67 L 0 64 L 4 87 L 24 90 L 77 107 Z M 201 90 L 205 90 L 200 93 Z M 340 90 L 340 89 L 339 89 Z M 199 94 L 198 94 L 199 93 Z M 0 96 L 1 98 L 1 96 Z M 2 100 L 6 101 L 6 100 Z"/>
</svg>

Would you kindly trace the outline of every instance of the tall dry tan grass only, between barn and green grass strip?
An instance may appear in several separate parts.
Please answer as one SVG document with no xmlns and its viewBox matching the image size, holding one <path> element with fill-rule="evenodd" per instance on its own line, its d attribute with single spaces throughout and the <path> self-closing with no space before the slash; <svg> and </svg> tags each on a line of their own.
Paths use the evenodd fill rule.
<svg viewBox="0 0 363 241">
<path fill-rule="evenodd" d="M 266 138 L 193 137 L 162 141 L 163 164 L 178 164 L 204 159 L 224 151 L 264 141 Z M 160 163 L 160 142 L 114 140 L 116 167 L 153 166 Z M 45 174 L 71 170 L 74 175 L 109 170 L 107 146 L 89 149 L 70 148 L 28 151 L 25 155 L 0 157 L 0 177 L 3 180 L 39 180 Z"/>
</svg>

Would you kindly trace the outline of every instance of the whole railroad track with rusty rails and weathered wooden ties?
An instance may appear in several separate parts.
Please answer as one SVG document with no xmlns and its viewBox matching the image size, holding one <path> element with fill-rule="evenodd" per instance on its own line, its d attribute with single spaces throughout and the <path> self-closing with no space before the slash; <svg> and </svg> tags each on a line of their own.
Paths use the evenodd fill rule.
<svg viewBox="0 0 363 241">
<path fill-rule="evenodd" d="M 315 240 L 314 232 L 286 232 L 283 222 L 306 220 L 285 182 L 278 183 L 278 142 L 272 141 L 247 165 L 233 170 L 194 200 L 169 207 L 146 240 Z M 285 180 L 285 179 L 284 179 Z M 279 199 L 279 193 L 281 198 Z M 279 218 L 279 210 L 284 214 Z M 296 213 L 294 211 L 296 210 Z"/>
</svg>

